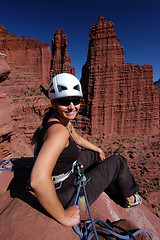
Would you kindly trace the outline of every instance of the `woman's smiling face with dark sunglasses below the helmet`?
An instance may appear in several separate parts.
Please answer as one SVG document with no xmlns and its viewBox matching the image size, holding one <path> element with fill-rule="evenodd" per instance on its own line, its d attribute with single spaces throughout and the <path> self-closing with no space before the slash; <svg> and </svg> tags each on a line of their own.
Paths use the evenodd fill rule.
<svg viewBox="0 0 160 240">
<path fill-rule="evenodd" d="M 80 109 L 79 97 L 67 97 L 52 101 L 52 106 L 58 115 L 68 121 L 73 120 Z"/>
</svg>

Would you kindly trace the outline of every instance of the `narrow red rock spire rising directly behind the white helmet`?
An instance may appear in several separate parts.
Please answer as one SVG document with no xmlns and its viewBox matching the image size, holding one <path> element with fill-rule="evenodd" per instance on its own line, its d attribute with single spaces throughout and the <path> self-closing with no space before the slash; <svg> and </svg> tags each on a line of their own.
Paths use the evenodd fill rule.
<svg viewBox="0 0 160 240">
<path fill-rule="evenodd" d="M 67 37 L 63 30 L 57 30 L 52 40 L 51 78 L 59 73 L 75 75 L 76 69 L 71 66 L 71 58 L 67 51 Z"/>
</svg>

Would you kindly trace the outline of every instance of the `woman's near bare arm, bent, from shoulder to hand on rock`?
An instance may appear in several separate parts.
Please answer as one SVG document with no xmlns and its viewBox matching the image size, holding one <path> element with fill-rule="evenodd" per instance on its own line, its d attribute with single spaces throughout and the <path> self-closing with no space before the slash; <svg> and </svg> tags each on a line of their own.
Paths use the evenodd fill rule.
<svg viewBox="0 0 160 240">
<path fill-rule="evenodd" d="M 31 173 L 31 186 L 41 205 L 53 218 L 65 226 L 74 226 L 79 222 L 79 208 L 72 206 L 64 210 L 51 178 L 57 159 L 68 142 L 68 137 L 68 131 L 62 125 L 53 125 L 48 129 L 46 140 Z"/>
</svg>

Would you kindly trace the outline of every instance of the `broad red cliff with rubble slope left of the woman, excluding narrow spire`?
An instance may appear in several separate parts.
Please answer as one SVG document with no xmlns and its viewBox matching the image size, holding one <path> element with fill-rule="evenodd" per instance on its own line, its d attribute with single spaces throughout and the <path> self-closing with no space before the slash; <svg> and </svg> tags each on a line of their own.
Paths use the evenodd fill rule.
<svg viewBox="0 0 160 240">
<path fill-rule="evenodd" d="M 11 69 L 8 80 L 0 85 L 0 158 L 3 159 L 9 153 L 26 154 L 19 146 L 24 149 L 26 143 L 21 138 L 30 143 L 30 136 L 37 128 L 34 109 L 44 108 L 39 86 L 48 83 L 51 52 L 48 43 L 17 37 L 1 25 L 0 52 L 7 55 Z M 29 144 L 27 154 L 31 153 Z"/>
</svg>

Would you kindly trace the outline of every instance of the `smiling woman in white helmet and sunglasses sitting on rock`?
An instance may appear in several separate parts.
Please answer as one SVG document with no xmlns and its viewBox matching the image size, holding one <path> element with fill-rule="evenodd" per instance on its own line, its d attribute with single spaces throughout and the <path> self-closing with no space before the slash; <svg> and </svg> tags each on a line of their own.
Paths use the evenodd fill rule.
<svg viewBox="0 0 160 240">
<path fill-rule="evenodd" d="M 68 73 L 55 76 L 49 87 L 52 107 L 36 131 L 37 158 L 31 173 L 31 187 L 47 212 L 65 226 L 79 222 L 79 208 L 74 206 L 76 176 L 73 163 L 83 164 L 90 179 L 86 191 L 91 205 L 112 183 L 126 200 L 127 206 L 140 203 L 134 177 L 121 156 L 105 158 L 102 149 L 88 142 L 72 127 L 80 109 L 82 89 L 78 79 Z M 79 151 L 77 145 L 86 150 Z M 59 181 L 60 179 L 60 181 Z"/>
</svg>

